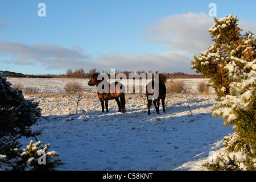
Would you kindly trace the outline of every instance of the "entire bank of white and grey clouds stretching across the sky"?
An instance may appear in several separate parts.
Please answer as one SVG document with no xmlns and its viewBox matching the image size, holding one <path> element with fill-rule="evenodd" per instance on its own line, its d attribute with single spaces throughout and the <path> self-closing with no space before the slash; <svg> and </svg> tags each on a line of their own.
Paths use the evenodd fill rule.
<svg viewBox="0 0 256 182">
<path fill-rule="evenodd" d="M 15 57 L 14 64 L 34 63 L 47 69 L 91 68 L 108 70 L 144 70 L 159 72 L 193 73 L 190 69 L 192 56 L 207 49 L 211 42 L 209 28 L 213 19 L 201 14 L 177 14 L 166 16 L 156 21 L 155 26 L 147 27 L 143 36 L 145 42 L 157 42 L 170 48 L 160 54 L 143 53 L 142 55 L 101 55 L 89 59 L 83 49 L 74 45 L 71 49 L 53 44 L 32 44 L 7 42 L 0 40 L 0 53 Z M 171 51 L 176 49 L 175 52 Z"/>
</svg>

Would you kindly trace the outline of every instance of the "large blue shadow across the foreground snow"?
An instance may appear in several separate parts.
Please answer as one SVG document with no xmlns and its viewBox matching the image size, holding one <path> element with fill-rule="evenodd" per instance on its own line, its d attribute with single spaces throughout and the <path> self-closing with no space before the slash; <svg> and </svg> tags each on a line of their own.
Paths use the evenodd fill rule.
<svg viewBox="0 0 256 182">
<path fill-rule="evenodd" d="M 185 102 L 185 101 L 184 101 Z M 147 107 L 127 107 L 118 113 L 89 110 L 80 114 L 42 117 L 33 130 L 50 143 L 65 164 L 61 170 L 172 170 L 216 150 L 218 140 L 232 132 L 210 113 L 189 113 L 173 104 L 163 114 Z M 209 107 L 210 104 L 198 107 Z"/>
</svg>

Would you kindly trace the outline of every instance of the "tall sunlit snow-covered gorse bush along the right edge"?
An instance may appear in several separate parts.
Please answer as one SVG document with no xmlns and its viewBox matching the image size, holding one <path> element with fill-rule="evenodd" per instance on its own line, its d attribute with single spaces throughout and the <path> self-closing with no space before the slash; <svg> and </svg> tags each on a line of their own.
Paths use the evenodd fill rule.
<svg viewBox="0 0 256 182">
<path fill-rule="evenodd" d="M 240 143 L 236 148 L 246 152 L 243 164 L 255 169 L 256 38 L 251 32 L 241 36 L 237 16 L 214 21 L 209 32 L 215 44 L 194 56 L 191 68 L 213 82 L 219 101 L 213 115 L 225 119 L 224 126 L 233 125 L 238 135 L 233 143 Z"/>
</svg>

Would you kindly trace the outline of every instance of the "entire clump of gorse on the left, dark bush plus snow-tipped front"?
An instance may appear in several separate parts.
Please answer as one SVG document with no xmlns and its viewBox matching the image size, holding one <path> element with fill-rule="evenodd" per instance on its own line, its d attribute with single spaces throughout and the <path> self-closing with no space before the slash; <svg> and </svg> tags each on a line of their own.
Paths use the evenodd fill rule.
<svg viewBox="0 0 256 182">
<path fill-rule="evenodd" d="M 61 160 L 57 152 L 47 152 L 44 146 L 32 140 L 26 149 L 21 150 L 20 137 L 35 137 L 30 126 L 41 115 L 38 102 L 26 100 L 22 91 L 11 88 L 11 83 L 0 76 L 0 170 L 52 170 Z M 38 160 L 44 160 L 40 163 Z"/>
</svg>

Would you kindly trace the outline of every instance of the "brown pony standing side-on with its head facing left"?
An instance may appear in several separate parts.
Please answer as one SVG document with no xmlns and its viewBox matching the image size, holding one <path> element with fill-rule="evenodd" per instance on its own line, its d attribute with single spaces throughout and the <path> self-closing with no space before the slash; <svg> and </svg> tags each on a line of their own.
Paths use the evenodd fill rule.
<svg viewBox="0 0 256 182">
<path fill-rule="evenodd" d="M 94 73 L 92 78 L 90 79 L 90 81 L 88 82 L 89 86 L 93 86 L 96 85 L 97 86 L 97 90 L 98 90 L 98 98 L 101 101 L 101 108 L 102 108 L 102 113 L 104 113 L 104 101 L 105 101 L 105 107 L 106 107 L 106 112 L 109 112 L 108 109 L 108 100 L 113 100 L 115 99 L 115 101 L 117 102 L 118 105 L 118 111 L 125 113 L 126 109 L 125 109 L 125 93 L 122 92 L 122 89 L 124 89 L 124 86 L 119 83 L 119 82 L 113 82 L 112 84 L 115 84 L 115 90 L 113 90 L 114 92 L 111 92 L 112 90 L 110 89 L 111 86 L 109 84 L 109 82 L 105 83 L 104 85 L 108 85 L 107 89 L 108 92 L 99 92 L 99 89 L 104 89 L 104 85 L 102 86 L 102 88 L 98 88 L 98 85 L 102 82 L 102 81 L 106 81 L 105 79 L 102 80 L 98 80 L 98 75 L 100 75 L 100 73 Z M 119 84 L 119 88 L 117 86 L 117 84 Z M 120 101 L 119 101 L 119 97 L 120 97 Z"/>
</svg>

